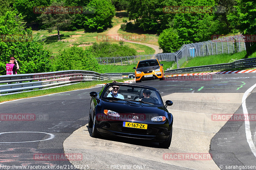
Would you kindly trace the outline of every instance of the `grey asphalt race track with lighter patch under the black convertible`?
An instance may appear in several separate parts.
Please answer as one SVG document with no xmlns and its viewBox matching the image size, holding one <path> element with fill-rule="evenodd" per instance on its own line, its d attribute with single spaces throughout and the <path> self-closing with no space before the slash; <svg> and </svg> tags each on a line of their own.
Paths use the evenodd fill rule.
<svg viewBox="0 0 256 170">
<path fill-rule="evenodd" d="M 255 83 L 256 73 L 139 83 L 174 103 L 169 149 L 92 138 L 89 92 L 101 85 L 1 103 L 0 169 L 256 169 Z"/>
</svg>

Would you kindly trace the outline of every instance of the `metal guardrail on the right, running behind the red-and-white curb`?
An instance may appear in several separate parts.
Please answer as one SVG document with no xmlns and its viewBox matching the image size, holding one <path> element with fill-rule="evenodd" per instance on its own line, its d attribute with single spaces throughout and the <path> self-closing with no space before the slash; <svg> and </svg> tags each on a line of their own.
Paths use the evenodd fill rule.
<svg viewBox="0 0 256 170">
<path fill-rule="evenodd" d="M 252 67 L 256 67 L 256 58 L 236 60 L 233 63 L 203 65 L 203 66 L 187 67 L 187 68 L 181 68 L 181 69 L 165 70 L 165 74 L 191 73 L 191 72 L 200 72 L 200 71 L 228 70 L 228 69 L 252 68 Z"/>
</svg>

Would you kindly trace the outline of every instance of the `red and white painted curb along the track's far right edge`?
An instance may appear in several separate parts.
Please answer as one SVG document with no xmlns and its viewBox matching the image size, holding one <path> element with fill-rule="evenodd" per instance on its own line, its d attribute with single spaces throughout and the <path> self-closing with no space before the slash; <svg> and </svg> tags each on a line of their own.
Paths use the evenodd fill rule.
<svg viewBox="0 0 256 170">
<path fill-rule="evenodd" d="M 211 75 L 211 74 L 233 74 L 233 73 L 256 73 L 256 70 L 254 69 L 254 70 L 217 71 L 217 72 L 206 72 L 206 73 L 176 74 L 176 75 L 166 75 L 164 77 L 198 76 L 198 75 Z"/>
</svg>

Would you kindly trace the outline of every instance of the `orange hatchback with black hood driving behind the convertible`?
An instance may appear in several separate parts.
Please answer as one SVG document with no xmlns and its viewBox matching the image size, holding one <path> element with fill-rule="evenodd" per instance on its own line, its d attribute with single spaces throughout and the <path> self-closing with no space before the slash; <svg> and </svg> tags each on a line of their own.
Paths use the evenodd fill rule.
<svg viewBox="0 0 256 170">
<path fill-rule="evenodd" d="M 137 67 L 133 67 L 135 70 L 136 83 L 141 80 L 149 80 L 159 78 L 164 80 L 164 64 L 160 64 L 157 59 L 142 60 L 137 64 Z"/>
</svg>

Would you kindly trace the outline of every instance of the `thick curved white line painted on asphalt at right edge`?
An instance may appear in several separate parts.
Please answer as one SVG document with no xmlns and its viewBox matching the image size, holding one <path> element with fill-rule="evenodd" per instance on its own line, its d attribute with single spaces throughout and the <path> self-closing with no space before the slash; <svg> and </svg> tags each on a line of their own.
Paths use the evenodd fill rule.
<svg viewBox="0 0 256 170">
<path fill-rule="evenodd" d="M 256 84 L 254 84 L 252 87 L 250 87 L 248 90 L 246 90 L 246 92 L 244 92 L 243 99 L 242 99 L 242 107 L 243 107 L 243 112 L 244 112 L 245 117 L 248 117 L 248 111 L 247 111 L 247 108 L 246 108 L 245 100 L 246 100 L 247 96 L 249 95 L 249 93 L 252 92 L 252 90 L 255 87 L 256 87 Z M 253 144 L 253 141 L 252 141 L 250 121 L 244 121 L 244 125 L 245 125 L 245 134 L 246 134 L 247 142 L 248 142 L 248 144 L 251 148 L 252 153 L 256 157 L 256 148 L 255 148 L 255 145 Z"/>
</svg>

